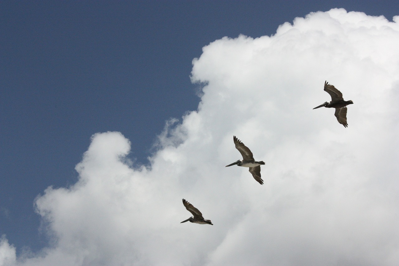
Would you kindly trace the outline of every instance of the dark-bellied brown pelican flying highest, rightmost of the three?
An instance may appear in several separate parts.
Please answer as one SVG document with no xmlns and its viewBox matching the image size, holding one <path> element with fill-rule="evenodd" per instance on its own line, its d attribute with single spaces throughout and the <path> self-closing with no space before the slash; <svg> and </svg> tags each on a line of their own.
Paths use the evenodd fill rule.
<svg viewBox="0 0 399 266">
<path fill-rule="evenodd" d="M 353 101 L 344 101 L 342 97 L 341 91 L 336 89 L 333 85 L 328 84 L 326 81 L 324 83 L 324 90 L 328 92 L 331 96 L 331 101 L 326 101 L 322 105 L 318 107 L 314 107 L 313 109 L 317 109 L 320 107 L 327 107 L 327 108 L 335 108 L 335 117 L 337 117 L 338 123 L 344 125 L 344 127 L 348 127 L 348 123 L 346 122 L 346 105 L 352 104 Z"/>
</svg>

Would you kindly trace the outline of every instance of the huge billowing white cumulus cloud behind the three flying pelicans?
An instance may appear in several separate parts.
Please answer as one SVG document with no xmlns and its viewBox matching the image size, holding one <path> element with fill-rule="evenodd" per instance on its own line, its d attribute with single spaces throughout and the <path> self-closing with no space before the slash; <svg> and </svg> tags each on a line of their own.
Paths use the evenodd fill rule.
<svg viewBox="0 0 399 266">
<path fill-rule="evenodd" d="M 121 133 L 93 135 L 79 181 L 37 198 L 52 244 L 0 265 L 397 265 L 399 16 L 332 9 L 275 35 L 222 38 L 193 61 L 198 110 L 159 135 L 149 167 Z M 324 81 L 348 107 L 348 128 Z M 259 185 L 233 135 L 263 160 Z M 180 222 L 199 208 L 213 226 Z"/>
</svg>

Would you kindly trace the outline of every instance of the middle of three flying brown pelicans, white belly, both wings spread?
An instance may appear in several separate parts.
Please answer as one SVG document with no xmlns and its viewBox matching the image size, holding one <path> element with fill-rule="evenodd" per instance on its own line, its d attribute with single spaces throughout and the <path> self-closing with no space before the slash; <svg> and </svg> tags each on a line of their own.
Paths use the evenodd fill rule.
<svg viewBox="0 0 399 266">
<path fill-rule="evenodd" d="M 244 145 L 236 136 L 233 136 L 233 141 L 235 144 L 235 148 L 241 153 L 243 156 L 243 160 L 238 160 L 234 163 L 226 165 L 226 167 L 231 165 L 238 165 L 243 167 L 249 167 L 249 172 L 252 174 L 253 178 L 259 182 L 259 184 L 263 185 L 263 179 L 261 179 L 261 165 L 265 163 L 263 161 L 257 162 L 253 159 L 253 155 L 250 149 Z"/>
</svg>

